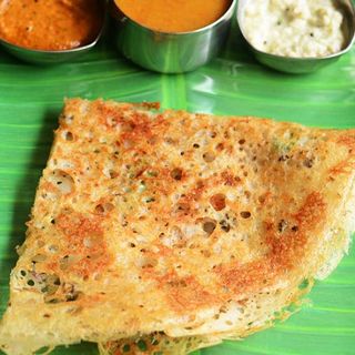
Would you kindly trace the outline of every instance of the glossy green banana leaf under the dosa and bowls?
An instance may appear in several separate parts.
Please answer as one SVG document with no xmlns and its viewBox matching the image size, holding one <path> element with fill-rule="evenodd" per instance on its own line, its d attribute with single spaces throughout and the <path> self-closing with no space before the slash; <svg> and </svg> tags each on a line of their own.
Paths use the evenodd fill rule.
<svg viewBox="0 0 355 355">
<path fill-rule="evenodd" d="M 187 74 L 144 71 L 113 48 L 110 36 L 74 62 L 36 67 L 0 51 L 0 315 L 22 243 L 34 191 L 44 168 L 63 98 L 160 101 L 163 108 L 274 118 L 327 128 L 355 128 L 355 50 L 307 75 L 258 64 L 233 31 L 223 53 Z M 242 342 L 203 355 L 355 354 L 355 250 L 316 283 L 301 312 Z M 199 353 L 199 352 L 197 352 Z M 54 354 L 97 354 L 93 344 Z"/>
</svg>

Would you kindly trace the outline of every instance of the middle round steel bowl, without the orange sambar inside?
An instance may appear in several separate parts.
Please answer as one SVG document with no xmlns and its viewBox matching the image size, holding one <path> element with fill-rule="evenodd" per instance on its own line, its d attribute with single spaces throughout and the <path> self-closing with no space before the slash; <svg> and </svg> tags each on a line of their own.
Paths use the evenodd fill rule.
<svg viewBox="0 0 355 355">
<path fill-rule="evenodd" d="M 236 0 L 215 22 L 190 32 L 160 32 L 128 18 L 111 2 L 115 19 L 115 42 L 119 50 L 134 63 L 162 73 L 192 71 L 217 55 L 231 27 Z"/>
</svg>

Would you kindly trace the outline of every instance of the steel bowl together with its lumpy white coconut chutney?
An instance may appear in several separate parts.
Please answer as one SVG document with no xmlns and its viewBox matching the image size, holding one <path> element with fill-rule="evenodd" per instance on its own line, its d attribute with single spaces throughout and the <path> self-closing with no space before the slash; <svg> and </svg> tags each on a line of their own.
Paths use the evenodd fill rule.
<svg viewBox="0 0 355 355">
<path fill-rule="evenodd" d="M 237 22 L 255 58 L 287 73 L 328 65 L 355 41 L 352 0 L 240 0 Z"/>
</svg>

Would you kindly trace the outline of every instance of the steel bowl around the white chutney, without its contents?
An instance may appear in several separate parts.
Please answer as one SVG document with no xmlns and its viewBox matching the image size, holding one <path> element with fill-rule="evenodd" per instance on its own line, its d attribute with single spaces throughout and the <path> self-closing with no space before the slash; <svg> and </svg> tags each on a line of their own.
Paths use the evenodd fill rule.
<svg viewBox="0 0 355 355">
<path fill-rule="evenodd" d="M 314 72 L 325 65 L 328 65 L 335 61 L 337 61 L 343 54 L 348 52 L 355 41 L 355 9 L 352 0 L 337 0 L 337 4 L 343 12 L 343 27 L 344 27 L 344 36 L 345 36 L 345 45 L 344 48 L 336 53 L 328 54 L 325 57 L 303 57 L 303 58 L 294 58 L 294 57 L 283 57 L 275 55 L 271 53 L 266 53 L 257 50 L 246 38 L 243 29 L 243 19 L 242 13 L 244 7 L 246 6 L 248 0 L 240 0 L 237 4 L 237 22 L 241 29 L 242 36 L 246 41 L 250 49 L 253 51 L 255 58 L 263 64 L 276 69 L 278 71 L 301 74 L 301 73 L 311 73 Z M 257 26 L 257 24 L 255 24 Z"/>
</svg>

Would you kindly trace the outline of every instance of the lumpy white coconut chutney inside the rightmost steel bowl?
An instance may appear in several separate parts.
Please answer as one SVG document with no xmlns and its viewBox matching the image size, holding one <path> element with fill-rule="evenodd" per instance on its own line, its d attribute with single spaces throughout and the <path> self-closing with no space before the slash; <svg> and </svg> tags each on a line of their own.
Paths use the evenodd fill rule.
<svg viewBox="0 0 355 355">
<path fill-rule="evenodd" d="M 325 57 L 344 45 L 343 14 L 332 0 L 250 0 L 241 27 L 257 50 L 285 57 Z"/>
</svg>

